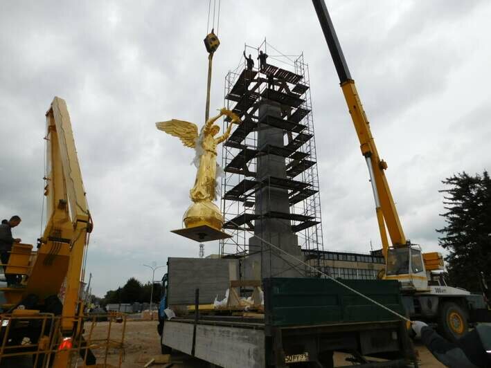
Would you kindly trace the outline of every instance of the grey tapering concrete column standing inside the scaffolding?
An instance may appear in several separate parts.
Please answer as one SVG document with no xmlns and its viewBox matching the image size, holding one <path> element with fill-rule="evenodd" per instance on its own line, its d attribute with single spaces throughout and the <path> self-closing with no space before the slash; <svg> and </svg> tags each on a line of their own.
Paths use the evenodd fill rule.
<svg viewBox="0 0 491 368">
<path fill-rule="evenodd" d="M 259 121 L 265 115 L 281 118 L 280 105 L 276 102 L 263 100 L 259 107 Z M 265 145 L 284 147 L 284 131 L 276 127 L 260 124 L 258 128 L 258 149 Z M 257 158 L 256 180 L 264 181 L 269 176 L 287 178 L 285 158 L 272 154 L 262 155 Z M 270 211 L 289 212 L 288 190 L 264 185 L 256 192 L 256 214 L 266 214 Z M 298 239 L 292 232 L 291 223 L 285 219 L 260 218 L 254 221 L 254 233 L 275 246 L 285 250 L 291 255 L 303 260 Z M 251 255 L 245 261 L 245 275 L 247 278 L 260 277 L 303 277 L 303 268 L 292 268 L 293 259 L 287 261 L 278 257 L 278 250 L 270 249 L 268 244 L 260 239 L 249 239 L 249 252 Z M 283 255 L 285 257 L 285 255 Z M 252 268 L 255 270 L 252 273 Z M 260 268 L 260 271 L 258 270 Z M 300 272 L 299 272 L 300 271 Z"/>
</svg>

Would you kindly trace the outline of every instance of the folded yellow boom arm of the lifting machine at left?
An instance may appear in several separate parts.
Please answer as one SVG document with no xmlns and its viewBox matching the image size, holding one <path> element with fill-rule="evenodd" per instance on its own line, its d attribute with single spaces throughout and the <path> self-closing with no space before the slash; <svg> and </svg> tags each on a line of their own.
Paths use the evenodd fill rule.
<svg viewBox="0 0 491 368">
<path fill-rule="evenodd" d="M 62 98 L 55 97 L 46 113 L 48 173 L 45 194 L 47 197 L 47 223 L 41 239 L 41 248 L 53 252 L 53 246 L 69 251 L 66 264 L 62 329 L 73 329 L 73 317 L 79 305 L 82 262 L 87 234 L 92 230 L 82 173 L 78 163 L 71 121 Z M 45 268 L 44 273 L 56 272 Z M 62 272 L 59 275 L 62 275 Z M 58 277 L 58 281 L 60 279 Z"/>
</svg>

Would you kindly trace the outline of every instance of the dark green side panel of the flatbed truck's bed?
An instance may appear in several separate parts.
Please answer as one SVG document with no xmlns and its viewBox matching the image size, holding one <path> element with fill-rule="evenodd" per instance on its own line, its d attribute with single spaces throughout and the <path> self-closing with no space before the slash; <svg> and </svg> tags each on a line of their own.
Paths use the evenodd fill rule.
<svg viewBox="0 0 491 368">
<path fill-rule="evenodd" d="M 342 280 L 350 288 L 405 315 L 395 280 Z M 398 317 L 331 279 L 268 278 L 265 324 L 299 326 L 397 320 Z"/>
</svg>

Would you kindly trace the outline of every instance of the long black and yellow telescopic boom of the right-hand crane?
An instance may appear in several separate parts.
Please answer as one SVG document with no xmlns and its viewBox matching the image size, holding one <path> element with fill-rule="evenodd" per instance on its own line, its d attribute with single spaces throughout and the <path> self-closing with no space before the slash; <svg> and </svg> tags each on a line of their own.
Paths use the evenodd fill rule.
<svg viewBox="0 0 491 368">
<path fill-rule="evenodd" d="M 323 0 L 312 0 L 312 3 L 319 18 L 325 41 L 328 43 L 332 61 L 339 76 L 341 89 L 343 90 L 346 104 L 348 104 L 348 109 L 355 125 L 360 142 L 361 154 L 365 157 L 368 166 L 373 196 L 375 198 L 377 221 L 380 236 L 382 237 L 382 248 L 384 255 L 386 255 L 387 249 L 389 248 L 389 241 L 387 240 L 385 225 L 387 226 L 387 230 L 389 230 L 391 243 L 394 247 L 397 248 L 407 245 L 406 237 L 404 237 L 404 231 L 399 221 L 398 211 L 395 209 L 391 190 L 384 174 L 387 164 L 384 160 L 380 159 L 378 154 L 370 124 L 361 104 L 355 81 L 352 80 L 348 64 L 346 64 L 346 59 L 344 59 L 343 50 L 341 50 L 341 46 L 339 45 L 336 31 L 329 17 L 328 8 L 325 6 Z"/>
</svg>

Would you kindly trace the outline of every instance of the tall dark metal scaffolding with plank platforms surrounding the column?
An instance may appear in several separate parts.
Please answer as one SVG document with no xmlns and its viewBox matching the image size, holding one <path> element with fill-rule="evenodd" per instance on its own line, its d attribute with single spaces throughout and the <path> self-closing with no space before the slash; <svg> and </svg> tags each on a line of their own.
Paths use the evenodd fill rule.
<svg viewBox="0 0 491 368">
<path fill-rule="evenodd" d="M 245 45 L 244 53 L 250 51 L 256 56 L 268 49 L 278 53 L 266 41 L 258 48 Z M 248 68 L 242 58 L 238 67 L 225 77 L 224 100 L 226 107 L 240 116 L 242 124 L 232 131 L 222 148 L 221 206 L 224 228 L 232 237 L 220 241 L 220 255 L 248 255 L 254 223 L 277 219 L 289 221 L 309 263 L 321 268 L 324 252 L 319 174 L 310 77 L 303 54 L 269 55 L 267 64 L 262 67 L 256 64 L 253 68 Z M 281 116 L 260 117 L 259 105 L 263 100 L 280 106 Z M 223 129 L 227 123 L 224 120 Z M 258 147 L 258 131 L 264 126 L 282 129 L 283 145 Z M 258 160 L 278 156 L 285 160 L 285 176 L 259 178 Z M 274 211 L 269 205 L 256 208 L 257 196 L 269 196 L 269 188 L 287 190 L 288 211 Z"/>
</svg>

